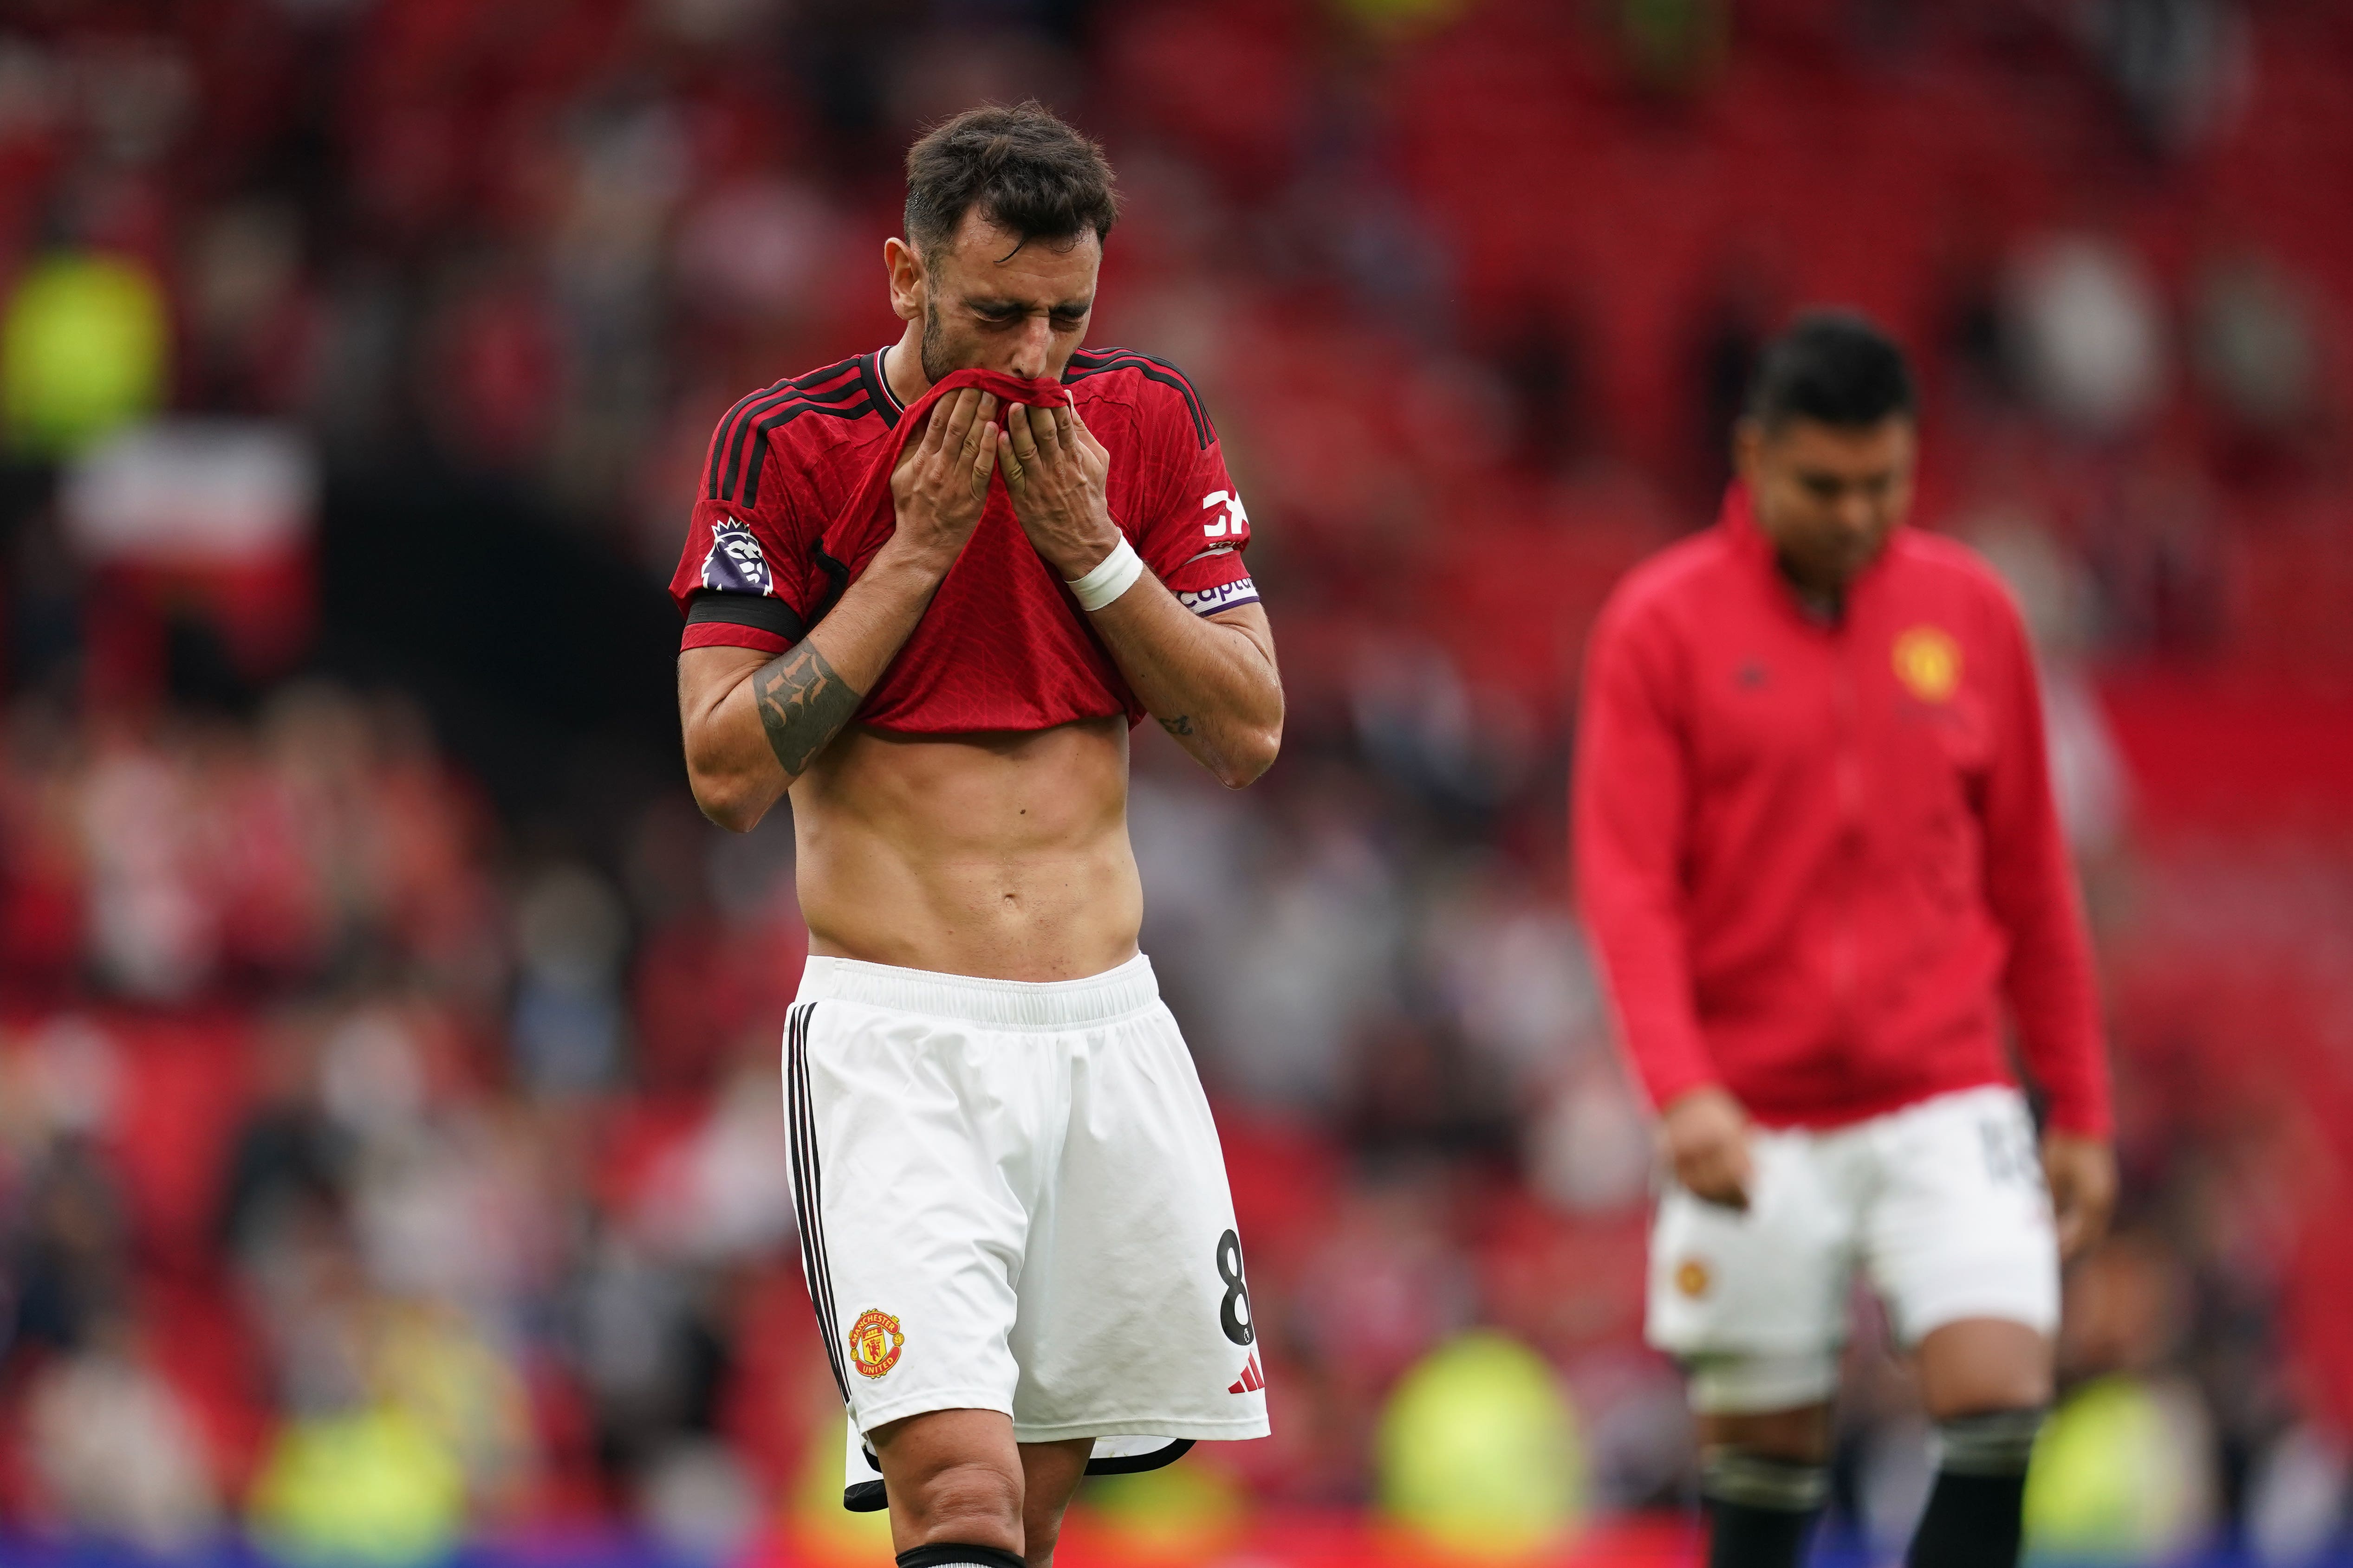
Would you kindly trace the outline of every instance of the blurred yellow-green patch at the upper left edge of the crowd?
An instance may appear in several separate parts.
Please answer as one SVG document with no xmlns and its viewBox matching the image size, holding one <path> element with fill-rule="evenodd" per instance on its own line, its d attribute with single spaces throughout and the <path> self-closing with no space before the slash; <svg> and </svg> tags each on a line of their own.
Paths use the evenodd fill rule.
<svg viewBox="0 0 2353 1568">
<path fill-rule="evenodd" d="M 0 425 L 19 454 L 71 456 L 153 414 L 169 371 L 162 289 L 134 261 L 33 263 L 0 320 Z"/>
</svg>

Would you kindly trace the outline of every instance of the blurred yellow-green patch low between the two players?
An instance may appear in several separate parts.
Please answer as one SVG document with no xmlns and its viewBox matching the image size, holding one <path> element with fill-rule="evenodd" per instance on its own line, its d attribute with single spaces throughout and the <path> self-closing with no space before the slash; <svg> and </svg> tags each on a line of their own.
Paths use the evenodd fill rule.
<svg viewBox="0 0 2353 1568">
<path fill-rule="evenodd" d="M 1513 1559 L 1584 1514 L 1577 1413 L 1553 1368 L 1501 1333 L 1466 1333 L 1391 1394 L 1379 1436 L 1384 1512 L 1438 1552 Z"/>
</svg>

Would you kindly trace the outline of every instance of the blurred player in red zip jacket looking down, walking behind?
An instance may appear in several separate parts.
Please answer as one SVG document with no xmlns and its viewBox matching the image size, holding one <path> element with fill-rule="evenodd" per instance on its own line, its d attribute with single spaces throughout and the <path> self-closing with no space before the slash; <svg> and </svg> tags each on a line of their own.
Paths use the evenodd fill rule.
<svg viewBox="0 0 2353 1568">
<path fill-rule="evenodd" d="M 2115 1192 L 2033 656 L 1986 564 L 1904 527 L 1915 447 L 1901 350 L 1802 317 L 1722 520 L 1588 651 L 1577 884 L 1661 1114 L 1649 1340 L 1689 1373 L 1715 1568 L 1798 1561 L 1857 1267 L 1937 1422 L 1908 1561 L 2014 1563 L 2059 1262 Z"/>
</svg>

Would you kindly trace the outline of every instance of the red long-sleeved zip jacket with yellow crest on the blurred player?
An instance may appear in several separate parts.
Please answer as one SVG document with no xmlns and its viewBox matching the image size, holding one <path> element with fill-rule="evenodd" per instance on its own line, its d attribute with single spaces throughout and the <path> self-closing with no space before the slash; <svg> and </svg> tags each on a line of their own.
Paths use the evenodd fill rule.
<svg viewBox="0 0 2353 1568">
<path fill-rule="evenodd" d="M 1899 529 L 1824 625 L 1734 487 L 1595 623 L 1572 830 L 1657 1105 L 1722 1084 L 1838 1126 L 2009 1081 L 2007 997 L 2052 1126 L 2108 1131 L 2033 656 L 1962 545 Z"/>
</svg>

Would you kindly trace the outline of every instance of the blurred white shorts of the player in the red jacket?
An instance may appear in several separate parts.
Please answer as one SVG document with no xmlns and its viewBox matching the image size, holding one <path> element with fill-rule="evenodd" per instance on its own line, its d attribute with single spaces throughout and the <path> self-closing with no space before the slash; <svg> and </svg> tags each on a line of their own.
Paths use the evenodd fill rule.
<svg viewBox="0 0 2353 1568">
<path fill-rule="evenodd" d="M 1972 1316 L 2059 1328 L 2059 1239 L 2017 1088 L 1751 1138 L 1746 1213 L 1668 1180 L 1652 1225 L 1647 1338 L 1685 1361 L 1694 1408 L 1828 1399 L 1857 1269 L 1906 1349 Z"/>
</svg>

